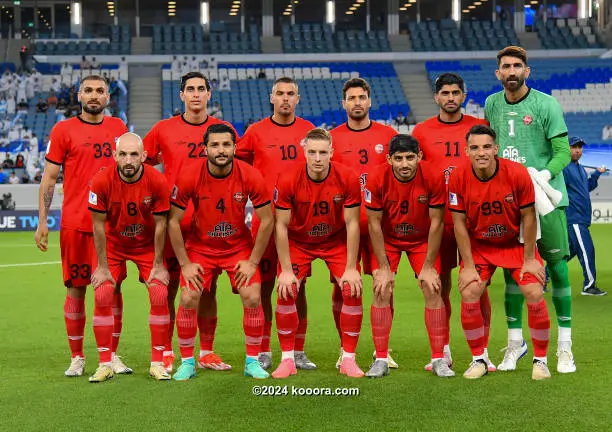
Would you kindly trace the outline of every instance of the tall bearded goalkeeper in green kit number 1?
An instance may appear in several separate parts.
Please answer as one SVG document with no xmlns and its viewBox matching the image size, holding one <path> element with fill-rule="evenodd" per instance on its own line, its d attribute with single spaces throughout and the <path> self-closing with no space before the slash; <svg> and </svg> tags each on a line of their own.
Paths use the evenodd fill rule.
<svg viewBox="0 0 612 432">
<path fill-rule="evenodd" d="M 559 103 L 547 94 L 529 88 L 527 53 L 521 47 L 509 46 L 497 54 L 497 79 L 504 89 L 490 95 L 485 102 L 485 117 L 497 133 L 499 156 L 532 167 L 538 182 L 548 183 L 562 193 L 556 208 L 540 216 L 541 238 L 538 251 L 546 260 L 557 323 L 559 326 L 557 371 L 576 371 L 572 354 L 572 293 L 567 259 L 569 243 L 565 207 L 567 191 L 563 168 L 570 160 L 567 126 Z M 506 282 L 506 319 L 508 346 L 498 370 L 516 369 L 517 361 L 527 353 L 523 339 L 523 296 L 510 274 L 504 271 Z"/>
</svg>

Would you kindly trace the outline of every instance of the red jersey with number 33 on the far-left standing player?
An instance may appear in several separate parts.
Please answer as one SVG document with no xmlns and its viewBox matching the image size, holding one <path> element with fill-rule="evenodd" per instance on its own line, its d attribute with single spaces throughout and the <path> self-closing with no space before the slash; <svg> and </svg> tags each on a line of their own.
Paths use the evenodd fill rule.
<svg viewBox="0 0 612 432">
<path fill-rule="evenodd" d="M 107 116 L 100 123 L 77 116 L 53 126 L 45 159 L 64 170 L 61 228 L 92 232 L 87 185 L 101 168 L 114 163 L 115 140 L 127 131 L 121 119 Z"/>
</svg>

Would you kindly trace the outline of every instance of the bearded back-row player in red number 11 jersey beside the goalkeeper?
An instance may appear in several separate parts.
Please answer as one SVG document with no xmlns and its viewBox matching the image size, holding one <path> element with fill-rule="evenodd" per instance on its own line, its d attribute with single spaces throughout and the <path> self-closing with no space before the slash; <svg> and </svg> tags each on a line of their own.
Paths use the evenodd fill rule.
<svg viewBox="0 0 612 432">
<path fill-rule="evenodd" d="M 487 124 L 485 120 L 472 117 L 461 112 L 465 102 L 466 92 L 463 78 L 454 73 L 444 73 L 435 82 L 434 100 L 440 107 L 437 116 L 431 117 L 415 126 L 412 135 L 418 140 L 423 158 L 438 169 L 448 185 L 450 173 L 461 163 L 469 161 L 466 155 L 465 136 L 472 126 Z M 450 317 L 452 288 L 451 273 L 457 267 L 457 242 L 453 231 L 453 218 L 446 209 L 444 213 L 444 235 L 440 247 L 442 281 L 442 299 L 446 310 L 446 334 L 444 335 L 444 359 L 452 366 L 453 358 L 450 350 Z M 489 360 L 487 345 L 491 323 L 491 301 L 488 290 L 480 297 L 482 314 L 485 320 L 485 362 L 489 372 L 495 371 L 495 365 Z M 431 370 L 431 363 L 425 365 L 425 370 Z"/>
</svg>

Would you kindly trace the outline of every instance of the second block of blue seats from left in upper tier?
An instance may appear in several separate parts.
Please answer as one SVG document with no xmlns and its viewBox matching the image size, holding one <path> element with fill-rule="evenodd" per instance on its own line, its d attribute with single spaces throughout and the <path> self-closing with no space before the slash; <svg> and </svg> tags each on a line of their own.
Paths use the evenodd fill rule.
<svg viewBox="0 0 612 432">
<path fill-rule="evenodd" d="M 213 31 L 202 26 L 166 24 L 153 26 L 153 54 L 256 54 L 261 52 L 259 28 L 251 24 L 247 33 Z"/>
</svg>

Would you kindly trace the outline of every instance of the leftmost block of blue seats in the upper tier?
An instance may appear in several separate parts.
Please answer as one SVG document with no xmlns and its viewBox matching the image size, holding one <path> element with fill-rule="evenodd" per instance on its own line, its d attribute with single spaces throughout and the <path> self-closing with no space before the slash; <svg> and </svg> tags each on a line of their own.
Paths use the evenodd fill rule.
<svg viewBox="0 0 612 432">
<path fill-rule="evenodd" d="M 126 55 L 130 54 L 132 36 L 129 25 L 111 25 L 100 34 L 76 35 L 41 33 L 34 40 L 34 53 L 40 55 Z"/>
</svg>

